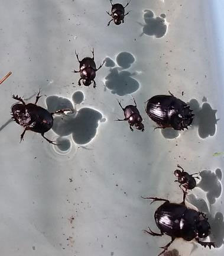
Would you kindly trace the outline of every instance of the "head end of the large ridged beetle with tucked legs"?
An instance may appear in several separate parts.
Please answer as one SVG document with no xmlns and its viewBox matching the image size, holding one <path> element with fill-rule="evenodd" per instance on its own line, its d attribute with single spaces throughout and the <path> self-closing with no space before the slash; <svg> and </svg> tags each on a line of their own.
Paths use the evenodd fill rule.
<svg viewBox="0 0 224 256">
<path fill-rule="evenodd" d="M 189 105 L 184 105 L 178 113 L 171 117 L 171 126 L 175 130 L 187 129 L 187 126 L 189 126 L 193 121 L 194 114 L 191 113 L 192 111 L 193 110 L 190 110 Z"/>
</svg>

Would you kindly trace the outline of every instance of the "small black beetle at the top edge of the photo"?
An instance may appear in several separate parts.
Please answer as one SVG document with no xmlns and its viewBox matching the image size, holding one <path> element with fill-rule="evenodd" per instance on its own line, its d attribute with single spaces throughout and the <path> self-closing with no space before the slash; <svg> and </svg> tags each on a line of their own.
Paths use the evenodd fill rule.
<svg viewBox="0 0 224 256">
<path fill-rule="evenodd" d="M 125 7 L 122 4 L 113 4 L 112 0 L 110 0 L 110 2 L 112 5 L 111 14 L 109 14 L 108 11 L 106 13 L 112 17 L 112 20 L 109 21 L 108 26 L 111 24 L 111 21 L 114 21 L 116 25 L 121 24 L 121 21 L 124 23 L 125 16 L 129 14 L 129 12 L 125 14 L 125 8 L 129 5 L 131 0 L 125 5 Z"/>
</svg>

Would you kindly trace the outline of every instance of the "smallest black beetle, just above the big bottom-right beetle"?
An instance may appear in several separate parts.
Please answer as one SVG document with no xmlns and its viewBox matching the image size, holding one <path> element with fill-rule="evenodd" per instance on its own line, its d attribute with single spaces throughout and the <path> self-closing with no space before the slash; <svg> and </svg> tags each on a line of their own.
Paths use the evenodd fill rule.
<svg viewBox="0 0 224 256">
<path fill-rule="evenodd" d="M 192 190 L 193 188 L 196 187 L 196 180 L 195 178 L 199 179 L 199 177 L 193 177 L 193 175 L 197 175 L 199 174 L 199 172 L 195 173 L 195 174 L 189 174 L 188 172 L 185 172 L 184 169 L 180 166 L 177 165 L 178 168 L 180 169 L 176 169 L 176 171 L 174 171 L 174 175 L 177 177 L 177 180 L 175 182 L 180 183 L 179 187 L 181 188 L 181 186 L 183 188 L 185 188 L 185 190 Z"/>
</svg>

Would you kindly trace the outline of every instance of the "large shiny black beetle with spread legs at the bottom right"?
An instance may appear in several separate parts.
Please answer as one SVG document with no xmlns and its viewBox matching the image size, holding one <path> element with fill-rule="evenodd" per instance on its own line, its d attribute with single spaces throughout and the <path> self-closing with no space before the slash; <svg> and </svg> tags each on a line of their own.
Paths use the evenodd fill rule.
<svg viewBox="0 0 224 256">
<path fill-rule="evenodd" d="M 155 233 L 150 228 L 148 228 L 149 231 L 145 230 L 145 232 L 152 236 L 163 236 L 164 234 L 171 236 L 171 241 L 164 247 L 161 247 L 163 251 L 158 256 L 167 251 L 176 238 L 183 238 L 186 241 L 195 239 L 203 247 L 208 246 L 211 249 L 213 246 L 215 248 L 214 242 L 200 241 L 200 238 L 206 238 L 210 234 L 209 222 L 203 212 L 198 212 L 186 206 L 185 197 L 186 192 L 184 190 L 183 202 L 180 204 L 170 203 L 167 199 L 157 197 L 142 197 L 144 199 L 151 199 L 151 204 L 154 201 L 165 201 L 154 214 L 155 223 L 160 229 L 160 233 Z"/>
</svg>

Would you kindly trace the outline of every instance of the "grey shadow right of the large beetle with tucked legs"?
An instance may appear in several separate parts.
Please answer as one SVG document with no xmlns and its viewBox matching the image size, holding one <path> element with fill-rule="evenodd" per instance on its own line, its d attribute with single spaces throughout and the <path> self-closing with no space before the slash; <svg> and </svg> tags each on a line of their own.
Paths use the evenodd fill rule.
<svg viewBox="0 0 224 256">
<path fill-rule="evenodd" d="M 190 100 L 189 105 L 195 115 L 191 125 L 198 127 L 199 137 L 206 139 L 206 137 L 214 136 L 218 121 L 218 119 L 216 119 L 217 110 L 213 110 L 211 105 L 207 102 L 204 102 L 202 107 L 200 107 L 196 99 Z"/>
</svg>

